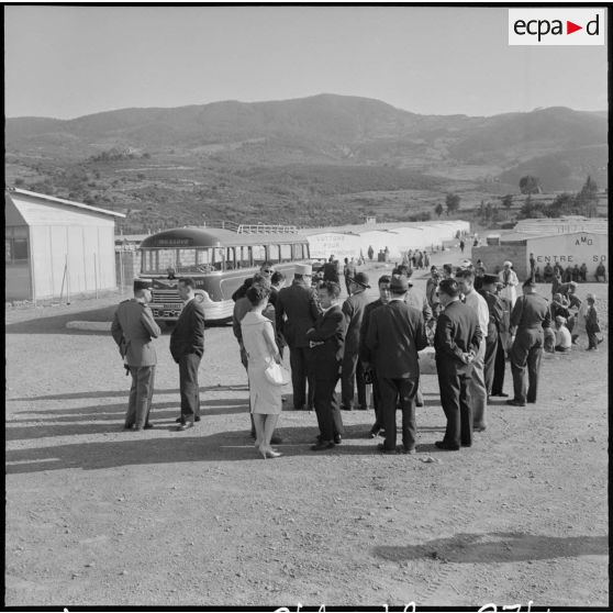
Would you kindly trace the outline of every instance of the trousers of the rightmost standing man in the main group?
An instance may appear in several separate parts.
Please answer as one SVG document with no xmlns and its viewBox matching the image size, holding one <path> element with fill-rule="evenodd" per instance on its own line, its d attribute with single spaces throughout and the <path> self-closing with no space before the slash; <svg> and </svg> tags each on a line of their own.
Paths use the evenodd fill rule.
<svg viewBox="0 0 613 613">
<path fill-rule="evenodd" d="M 542 357 L 543 328 L 520 328 L 510 354 L 513 397 L 517 402 L 536 402 Z"/>
</svg>

